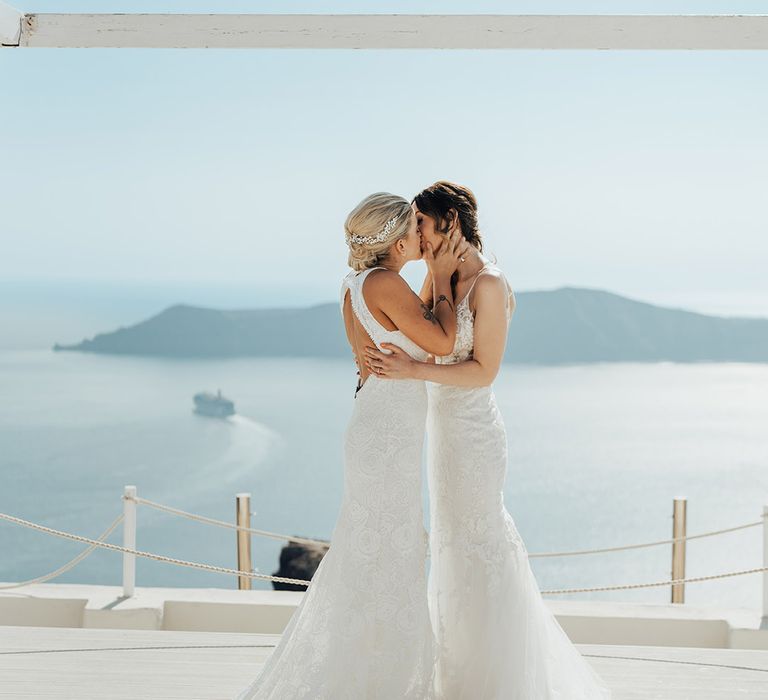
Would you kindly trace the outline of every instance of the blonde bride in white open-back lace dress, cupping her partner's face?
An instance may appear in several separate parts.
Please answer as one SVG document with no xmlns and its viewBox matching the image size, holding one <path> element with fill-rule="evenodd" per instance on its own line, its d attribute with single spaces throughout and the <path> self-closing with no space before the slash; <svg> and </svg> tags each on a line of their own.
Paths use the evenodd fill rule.
<svg viewBox="0 0 768 700">
<path fill-rule="evenodd" d="M 450 277 L 468 246 L 457 235 L 435 256 L 428 252 L 438 301 L 427 306 L 398 274 L 422 257 L 407 200 L 371 195 L 345 229 L 353 271 L 341 304 L 360 380 L 345 433 L 341 510 L 301 604 L 239 700 L 424 700 L 432 693 L 421 506 L 426 388 L 371 374 L 362 348 L 397 343 L 414 360 L 447 352 L 456 330 Z"/>
</svg>

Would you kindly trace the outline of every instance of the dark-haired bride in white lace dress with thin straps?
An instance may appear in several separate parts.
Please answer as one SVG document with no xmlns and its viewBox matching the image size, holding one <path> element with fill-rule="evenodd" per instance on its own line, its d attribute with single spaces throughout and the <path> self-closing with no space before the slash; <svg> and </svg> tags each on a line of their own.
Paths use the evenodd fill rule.
<svg viewBox="0 0 768 700">
<path fill-rule="evenodd" d="M 429 597 L 441 700 L 608 700 L 592 670 L 544 604 L 528 554 L 504 507 L 504 423 L 491 388 L 515 299 L 481 254 L 477 205 L 467 188 L 439 182 L 414 200 L 423 242 L 458 229 L 472 248 L 455 278 L 452 351 L 434 363 L 395 344 L 366 350 L 378 376 L 429 385 Z M 428 278 L 429 279 L 429 276 Z M 422 297 L 431 298 L 425 283 Z M 428 303 L 428 302 L 427 302 Z M 397 384 L 397 382 L 393 382 Z"/>
</svg>

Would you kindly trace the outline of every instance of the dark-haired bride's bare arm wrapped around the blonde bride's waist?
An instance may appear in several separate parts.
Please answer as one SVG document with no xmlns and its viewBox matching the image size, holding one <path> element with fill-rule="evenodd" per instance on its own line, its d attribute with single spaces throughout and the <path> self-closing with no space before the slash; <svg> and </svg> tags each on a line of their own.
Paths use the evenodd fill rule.
<svg viewBox="0 0 768 700">
<path fill-rule="evenodd" d="M 366 347 L 366 362 L 378 376 L 388 379 L 425 379 L 452 386 L 488 386 L 496 378 L 507 341 L 507 307 L 514 305 L 506 280 L 498 275 L 483 275 L 475 285 L 474 350 L 471 360 L 450 365 L 431 364 L 412 359 L 396 345 L 383 343 L 393 351 L 385 355 Z M 514 308 L 514 306 L 513 306 Z"/>
</svg>

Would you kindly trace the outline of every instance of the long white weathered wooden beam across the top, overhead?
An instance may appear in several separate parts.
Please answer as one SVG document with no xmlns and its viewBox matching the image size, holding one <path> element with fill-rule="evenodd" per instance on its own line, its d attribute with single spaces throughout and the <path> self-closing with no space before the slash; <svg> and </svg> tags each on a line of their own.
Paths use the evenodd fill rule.
<svg viewBox="0 0 768 700">
<path fill-rule="evenodd" d="M 768 49 L 767 15 L 32 14 L 25 47 Z"/>
</svg>

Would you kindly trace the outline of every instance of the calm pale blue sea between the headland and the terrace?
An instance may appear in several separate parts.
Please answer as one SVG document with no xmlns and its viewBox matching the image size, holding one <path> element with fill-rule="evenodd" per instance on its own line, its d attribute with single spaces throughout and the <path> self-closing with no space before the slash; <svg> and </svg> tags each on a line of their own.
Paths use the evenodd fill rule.
<svg viewBox="0 0 768 700">
<path fill-rule="evenodd" d="M 0 510 L 95 536 L 139 495 L 232 520 L 252 494 L 254 527 L 328 537 L 342 489 L 350 362 L 179 361 L 47 350 L 0 351 Z M 191 411 L 216 390 L 238 415 Z M 688 531 L 760 517 L 768 503 L 768 366 L 507 366 L 495 384 L 507 426 L 507 506 L 530 552 L 671 536 L 672 499 Z M 426 495 L 425 495 L 426 496 Z M 138 546 L 235 565 L 235 536 L 140 507 Z M 119 532 L 112 541 L 119 542 Z M 271 573 L 280 544 L 255 538 Z M 50 571 L 81 549 L 0 522 L 0 580 Z M 689 576 L 762 565 L 759 528 L 688 544 Z M 664 579 L 670 549 L 532 560 L 543 589 Z M 230 577 L 138 562 L 138 584 L 235 586 Z M 119 584 L 118 554 L 96 552 L 59 581 Z M 261 585 L 261 584 L 257 584 Z M 759 575 L 691 584 L 691 603 L 759 607 Z M 669 589 L 575 596 L 664 602 Z"/>
</svg>

